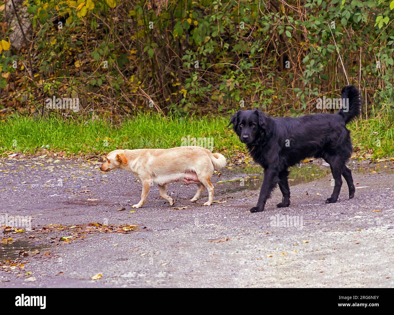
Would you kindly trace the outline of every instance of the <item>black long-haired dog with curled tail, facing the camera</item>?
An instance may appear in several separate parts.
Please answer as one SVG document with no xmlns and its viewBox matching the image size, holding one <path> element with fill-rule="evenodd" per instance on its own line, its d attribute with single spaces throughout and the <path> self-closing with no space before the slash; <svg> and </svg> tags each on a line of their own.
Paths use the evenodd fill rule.
<svg viewBox="0 0 394 315">
<path fill-rule="evenodd" d="M 353 152 L 346 124 L 360 114 L 362 100 L 353 85 L 345 86 L 341 94 L 342 108 L 335 114 L 269 117 L 260 110 L 239 110 L 231 117 L 229 126 L 232 125 L 241 142 L 246 144 L 253 159 L 264 167 L 260 196 L 251 212 L 264 211 L 277 183 L 283 195 L 277 207 L 288 207 L 288 167 L 307 157 L 322 157 L 331 166 L 335 187 L 326 203 L 338 200 L 341 176 L 348 183 L 349 198 L 354 197 L 351 170 L 345 165 Z"/>
</svg>

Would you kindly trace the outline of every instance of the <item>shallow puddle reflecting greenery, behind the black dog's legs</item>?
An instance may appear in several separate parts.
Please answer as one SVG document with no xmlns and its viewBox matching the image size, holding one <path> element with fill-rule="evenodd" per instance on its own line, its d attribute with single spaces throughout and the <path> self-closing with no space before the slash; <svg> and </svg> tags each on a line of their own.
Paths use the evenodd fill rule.
<svg viewBox="0 0 394 315">
<path fill-rule="evenodd" d="M 352 172 L 369 174 L 373 170 L 376 172 L 394 172 L 394 165 L 392 163 L 380 164 L 349 164 L 348 167 Z M 289 168 L 289 185 L 298 185 L 300 183 L 308 183 L 318 178 L 331 176 L 331 169 L 329 166 L 304 164 L 301 167 L 294 166 Z M 261 188 L 263 182 L 264 168 L 260 165 L 247 165 L 239 168 L 226 168 L 222 171 L 223 175 L 235 175 L 235 178 L 217 182 L 219 189 L 224 189 L 219 194 L 228 194 L 231 192 L 241 190 L 258 190 Z M 239 175 L 236 176 L 236 175 Z M 220 186 L 219 186 L 220 185 Z"/>
</svg>

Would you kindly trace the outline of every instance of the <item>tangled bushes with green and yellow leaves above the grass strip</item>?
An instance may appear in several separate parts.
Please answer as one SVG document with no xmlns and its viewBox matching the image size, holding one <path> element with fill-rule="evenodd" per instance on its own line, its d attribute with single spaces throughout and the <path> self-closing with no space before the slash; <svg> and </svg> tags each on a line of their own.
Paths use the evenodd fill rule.
<svg viewBox="0 0 394 315">
<path fill-rule="evenodd" d="M 368 109 L 394 99 L 392 0 L 162 3 L 28 0 L 35 81 L 16 93 L 3 76 L 0 87 L 21 104 L 34 89 L 37 98 L 78 94 L 84 108 L 108 112 L 110 104 L 112 113 L 186 115 L 240 103 L 273 114 L 313 112 L 316 97 L 347 84 L 343 62 Z M 27 75 L 10 67 L 26 55 L 0 54 L 2 73 Z"/>
</svg>

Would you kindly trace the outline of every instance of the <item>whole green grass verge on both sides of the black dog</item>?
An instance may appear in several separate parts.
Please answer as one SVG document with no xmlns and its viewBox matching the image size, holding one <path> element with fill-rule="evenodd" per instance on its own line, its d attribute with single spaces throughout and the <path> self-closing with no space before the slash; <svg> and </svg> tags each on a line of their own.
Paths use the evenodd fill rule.
<svg viewBox="0 0 394 315">
<path fill-rule="evenodd" d="M 171 148 L 184 144 L 182 138 L 188 136 L 212 138 L 214 152 L 227 157 L 245 153 L 238 137 L 227 130 L 228 121 L 229 117 L 139 114 L 111 125 L 106 120 L 10 117 L 0 122 L 0 154 L 43 154 L 41 148 L 46 145 L 50 151 L 67 155 L 97 155 L 116 148 Z M 393 124 L 394 115 L 385 107 L 374 118 L 357 120 L 348 128 L 352 131 L 353 145 L 361 147 L 359 152 L 370 152 L 373 158 L 393 157 Z"/>
</svg>

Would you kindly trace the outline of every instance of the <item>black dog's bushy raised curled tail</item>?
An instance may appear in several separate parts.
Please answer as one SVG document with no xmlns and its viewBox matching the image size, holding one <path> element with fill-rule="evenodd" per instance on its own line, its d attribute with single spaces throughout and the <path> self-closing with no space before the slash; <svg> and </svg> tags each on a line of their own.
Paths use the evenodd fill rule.
<svg viewBox="0 0 394 315">
<path fill-rule="evenodd" d="M 362 98 L 360 91 L 354 85 L 347 85 L 342 88 L 342 108 L 337 112 L 345 120 L 345 123 L 349 123 L 353 118 L 360 115 L 360 108 L 362 104 Z"/>
</svg>

